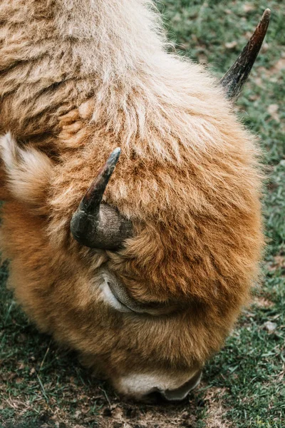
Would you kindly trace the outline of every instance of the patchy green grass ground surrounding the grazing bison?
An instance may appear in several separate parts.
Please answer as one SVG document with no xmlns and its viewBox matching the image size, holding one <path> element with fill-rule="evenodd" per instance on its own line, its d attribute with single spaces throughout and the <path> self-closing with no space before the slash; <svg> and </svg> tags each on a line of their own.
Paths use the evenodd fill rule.
<svg viewBox="0 0 285 428">
<path fill-rule="evenodd" d="M 268 171 L 264 215 L 269 245 L 264 283 L 224 349 L 209 362 L 187 402 L 161 407 L 124 404 L 90 379 L 72 352 L 60 350 L 26 320 L 0 272 L 0 427 L 285 426 L 285 4 L 283 0 L 157 1 L 177 51 L 222 76 L 266 7 L 266 45 L 238 102 L 239 115 L 261 137 Z M 236 42 L 236 43 L 232 43 Z M 266 322 L 276 325 L 266 330 Z M 145 425 L 146 424 L 146 425 Z"/>
</svg>

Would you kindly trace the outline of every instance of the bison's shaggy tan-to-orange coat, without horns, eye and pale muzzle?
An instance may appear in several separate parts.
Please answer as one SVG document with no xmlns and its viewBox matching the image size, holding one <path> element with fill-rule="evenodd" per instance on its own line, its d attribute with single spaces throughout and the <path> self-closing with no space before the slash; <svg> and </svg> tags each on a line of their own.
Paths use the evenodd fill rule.
<svg viewBox="0 0 285 428">
<path fill-rule="evenodd" d="M 20 141 L 1 140 L 11 286 L 41 330 L 114 384 L 202 367 L 247 302 L 263 245 L 255 138 L 206 71 L 165 52 L 146 3 L 0 2 L 0 131 Z M 104 198 L 135 235 L 118 252 L 83 248 L 71 216 L 117 146 Z M 115 312 L 100 299 L 103 264 L 136 300 L 179 310 Z"/>
</svg>

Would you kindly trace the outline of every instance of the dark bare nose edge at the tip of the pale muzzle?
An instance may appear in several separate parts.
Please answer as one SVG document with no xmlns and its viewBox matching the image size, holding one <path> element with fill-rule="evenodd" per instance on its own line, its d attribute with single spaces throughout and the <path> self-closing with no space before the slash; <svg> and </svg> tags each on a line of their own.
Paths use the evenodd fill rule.
<svg viewBox="0 0 285 428">
<path fill-rule="evenodd" d="M 189 379 L 185 384 L 182 384 L 181 387 L 176 389 L 165 389 L 160 390 L 158 388 L 152 389 L 150 392 L 145 394 L 145 397 L 143 397 L 146 401 L 151 402 L 161 402 L 161 401 L 182 401 L 182 399 L 185 399 L 189 392 L 197 387 L 202 377 L 202 370 L 199 370 L 191 379 Z"/>
</svg>

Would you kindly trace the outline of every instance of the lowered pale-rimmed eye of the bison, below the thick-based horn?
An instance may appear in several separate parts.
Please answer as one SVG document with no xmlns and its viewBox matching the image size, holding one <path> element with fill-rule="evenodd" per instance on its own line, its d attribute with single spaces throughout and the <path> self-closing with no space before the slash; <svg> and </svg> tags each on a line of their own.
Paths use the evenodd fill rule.
<svg viewBox="0 0 285 428">
<path fill-rule="evenodd" d="M 104 283 L 101 286 L 105 302 L 119 312 L 140 315 L 166 315 L 174 312 L 177 305 L 159 302 L 138 302 L 127 291 L 125 285 L 110 272 L 103 273 Z"/>
</svg>

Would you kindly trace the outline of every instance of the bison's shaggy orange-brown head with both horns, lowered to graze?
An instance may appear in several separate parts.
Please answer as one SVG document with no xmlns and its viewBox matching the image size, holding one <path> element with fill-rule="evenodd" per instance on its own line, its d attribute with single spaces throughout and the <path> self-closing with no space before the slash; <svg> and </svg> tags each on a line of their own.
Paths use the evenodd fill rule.
<svg viewBox="0 0 285 428">
<path fill-rule="evenodd" d="M 268 20 L 222 80 L 230 98 Z M 254 138 L 221 88 L 185 69 L 170 83 L 149 77 L 151 114 L 145 86 L 116 89 L 142 128 L 148 121 L 132 145 L 132 123 L 115 132 L 96 121 L 91 98 L 61 117 L 56 156 L 1 138 L 1 245 L 16 297 L 41 330 L 137 399 L 183 399 L 195 387 L 247 302 L 263 242 Z"/>
</svg>

